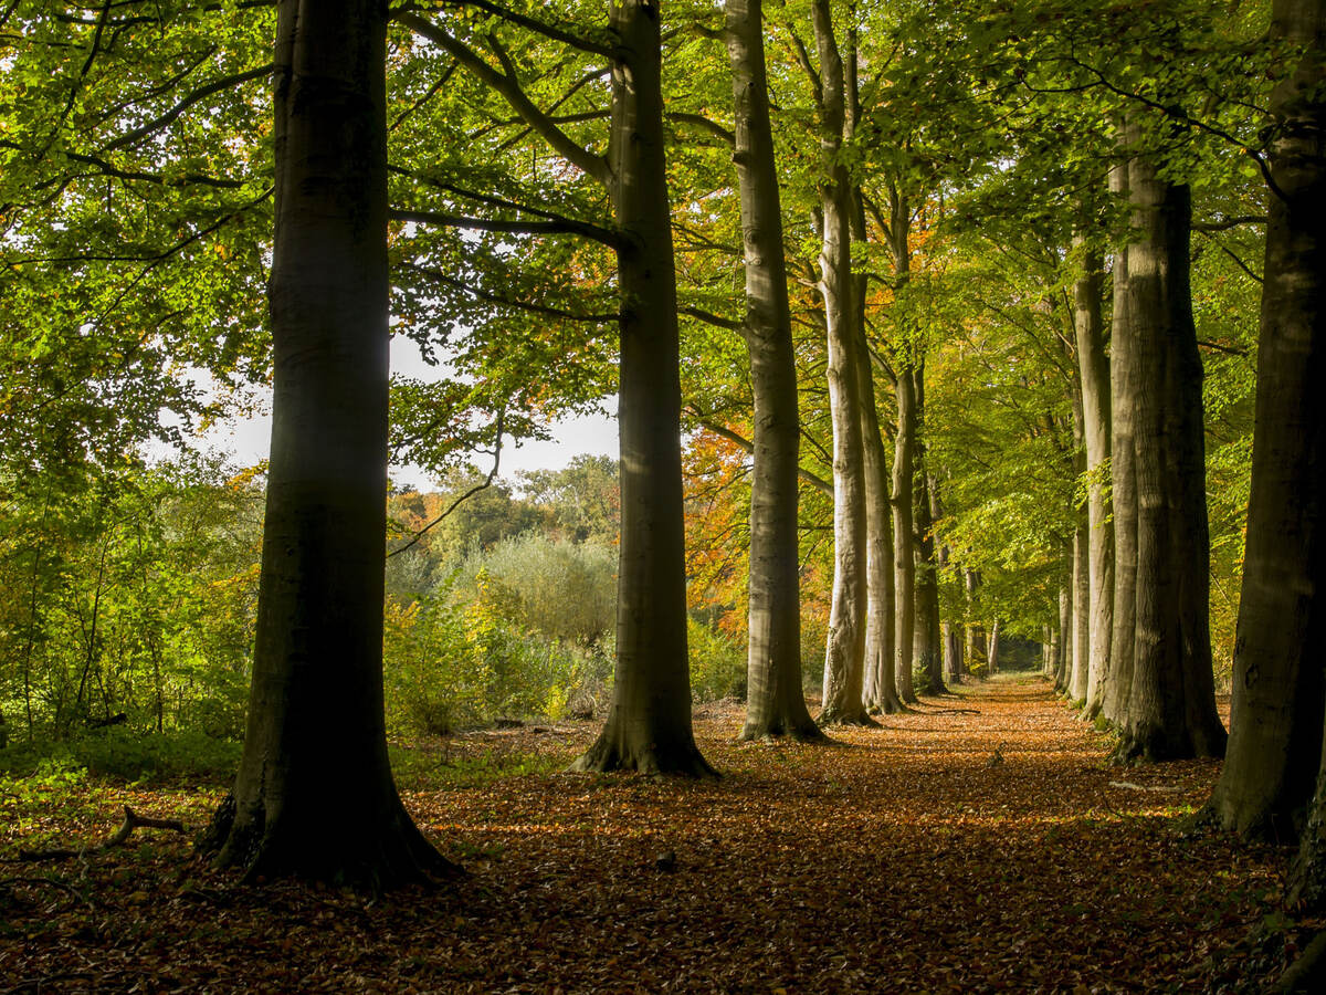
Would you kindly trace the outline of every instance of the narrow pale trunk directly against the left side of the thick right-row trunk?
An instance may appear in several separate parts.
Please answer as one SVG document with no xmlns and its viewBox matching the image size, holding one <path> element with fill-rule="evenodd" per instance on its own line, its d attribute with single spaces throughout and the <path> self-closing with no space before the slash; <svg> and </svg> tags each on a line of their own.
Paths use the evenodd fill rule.
<svg viewBox="0 0 1326 995">
<path fill-rule="evenodd" d="M 1128 163 L 1110 171 L 1110 192 L 1128 196 Z M 1132 447 L 1132 398 L 1136 393 L 1136 328 L 1130 317 L 1128 257 L 1113 259 L 1114 309 L 1110 324 L 1110 504 L 1114 539 L 1114 618 L 1110 626 L 1110 677 L 1101 714 L 1123 722 L 1132 691 L 1132 642 L 1136 630 L 1138 482 Z"/>
</svg>

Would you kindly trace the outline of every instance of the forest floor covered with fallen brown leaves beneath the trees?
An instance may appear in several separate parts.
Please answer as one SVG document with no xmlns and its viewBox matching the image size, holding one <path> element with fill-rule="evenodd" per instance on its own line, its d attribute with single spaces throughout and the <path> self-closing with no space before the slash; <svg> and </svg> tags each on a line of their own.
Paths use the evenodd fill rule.
<svg viewBox="0 0 1326 995">
<path fill-rule="evenodd" d="M 697 707 L 715 781 L 562 773 L 594 723 L 399 744 L 469 873 L 377 899 L 240 888 L 156 829 L 21 861 L 125 804 L 200 828 L 224 787 L 0 784 L 0 992 L 1223 992 L 1293 958 L 1286 852 L 1183 833 L 1219 763 L 1110 767 L 1042 681 L 960 691 L 827 748 Z"/>
</svg>

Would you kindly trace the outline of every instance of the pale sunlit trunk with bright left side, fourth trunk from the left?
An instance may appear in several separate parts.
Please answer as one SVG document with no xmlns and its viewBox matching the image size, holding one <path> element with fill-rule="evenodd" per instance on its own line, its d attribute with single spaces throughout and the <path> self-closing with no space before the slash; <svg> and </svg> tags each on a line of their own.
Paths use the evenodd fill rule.
<svg viewBox="0 0 1326 995">
<path fill-rule="evenodd" d="M 851 179 L 839 157 L 847 123 L 846 80 L 827 0 L 815 0 L 823 176 L 819 207 L 823 239 L 819 295 L 829 337 L 829 407 L 833 418 L 834 581 L 825 647 L 825 724 L 873 724 L 862 702 L 866 659 L 866 480 L 857 374 L 855 305 L 851 277 Z"/>
</svg>

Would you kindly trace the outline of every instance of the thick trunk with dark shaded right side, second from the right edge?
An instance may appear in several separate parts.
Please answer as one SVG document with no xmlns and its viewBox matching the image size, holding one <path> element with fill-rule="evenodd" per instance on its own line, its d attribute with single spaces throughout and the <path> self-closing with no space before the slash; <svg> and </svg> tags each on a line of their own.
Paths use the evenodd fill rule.
<svg viewBox="0 0 1326 995">
<path fill-rule="evenodd" d="M 1147 158 L 1128 166 L 1128 320 L 1138 555 L 1132 685 L 1119 756 L 1219 756 L 1208 629 L 1209 544 L 1201 360 L 1188 288 L 1188 188 Z"/>
</svg>

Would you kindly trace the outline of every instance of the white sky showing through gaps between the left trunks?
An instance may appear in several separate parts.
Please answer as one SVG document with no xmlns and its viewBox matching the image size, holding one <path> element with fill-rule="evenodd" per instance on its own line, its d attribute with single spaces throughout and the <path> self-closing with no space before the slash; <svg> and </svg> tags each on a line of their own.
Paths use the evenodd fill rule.
<svg viewBox="0 0 1326 995">
<path fill-rule="evenodd" d="M 434 367 L 419 358 L 414 342 L 395 337 L 391 340 L 391 371 L 419 379 L 428 379 Z M 614 402 L 609 402 L 615 409 Z M 252 466 L 267 459 L 272 436 L 271 414 L 237 419 L 213 426 L 200 439 L 204 448 L 216 448 L 233 454 L 235 462 Z M 581 454 L 609 455 L 617 459 L 618 435 L 615 415 L 591 415 L 570 418 L 553 426 L 550 442 L 526 442 L 516 446 L 511 438 L 503 440 L 500 475 L 514 476 L 518 470 L 561 470 Z M 487 472 L 488 456 L 479 456 L 477 466 Z M 419 467 L 392 467 L 391 480 L 399 486 L 411 486 L 419 491 L 434 488 L 432 480 Z"/>
</svg>

